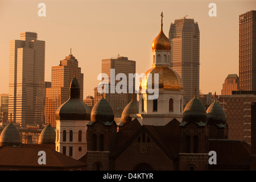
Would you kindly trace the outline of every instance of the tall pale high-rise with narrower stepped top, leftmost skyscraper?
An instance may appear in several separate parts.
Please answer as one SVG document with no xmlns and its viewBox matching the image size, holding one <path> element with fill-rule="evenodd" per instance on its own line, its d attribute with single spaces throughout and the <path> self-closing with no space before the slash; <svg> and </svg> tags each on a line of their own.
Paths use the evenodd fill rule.
<svg viewBox="0 0 256 182">
<path fill-rule="evenodd" d="M 9 119 L 21 126 L 43 123 L 45 44 L 35 32 L 10 41 Z"/>
</svg>

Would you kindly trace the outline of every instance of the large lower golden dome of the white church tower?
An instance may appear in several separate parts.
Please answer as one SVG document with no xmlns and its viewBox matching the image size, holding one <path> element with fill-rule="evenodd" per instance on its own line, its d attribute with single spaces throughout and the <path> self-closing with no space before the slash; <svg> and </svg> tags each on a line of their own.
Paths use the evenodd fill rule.
<svg viewBox="0 0 256 182">
<path fill-rule="evenodd" d="M 168 65 L 154 65 L 151 69 L 149 69 L 145 73 L 145 77 L 141 79 L 139 82 L 140 92 L 141 89 L 147 89 L 148 87 L 148 74 L 152 73 L 152 86 L 149 88 L 154 89 L 154 73 L 158 73 L 159 75 L 159 82 L 158 88 L 159 90 L 180 90 L 183 89 L 183 82 L 180 76 L 175 72 L 172 71 L 170 66 Z"/>
</svg>

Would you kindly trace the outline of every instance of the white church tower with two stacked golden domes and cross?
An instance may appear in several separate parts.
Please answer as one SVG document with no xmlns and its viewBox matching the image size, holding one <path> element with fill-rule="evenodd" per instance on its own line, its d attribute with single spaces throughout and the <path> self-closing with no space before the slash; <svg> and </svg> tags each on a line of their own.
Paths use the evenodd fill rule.
<svg viewBox="0 0 256 182">
<path fill-rule="evenodd" d="M 160 33 L 152 42 L 152 68 L 140 81 L 139 113 L 132 115 L 141 125 L 164 126 L 183 113 L 183 83 L 170 67 L 170 40 L 163 32 L 163 12 Z M 156 89 L 158 86 L 158 89 Z M 150 93 L 152 88 L 156 93 Z"/>
</svg>

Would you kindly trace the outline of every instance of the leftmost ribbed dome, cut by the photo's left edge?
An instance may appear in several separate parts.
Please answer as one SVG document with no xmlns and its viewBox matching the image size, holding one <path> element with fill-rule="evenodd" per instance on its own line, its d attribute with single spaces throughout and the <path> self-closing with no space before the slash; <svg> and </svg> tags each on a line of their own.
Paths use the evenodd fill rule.
<svg viewBox="0 0 256 182">
<path fill-rule="evenodd" d="M 4 144 L 7 146 L 20 146 L 22 144 L 22 138 L 13 123 L 7 125 L 1 133 L 0 146 Z"/>
</svg>

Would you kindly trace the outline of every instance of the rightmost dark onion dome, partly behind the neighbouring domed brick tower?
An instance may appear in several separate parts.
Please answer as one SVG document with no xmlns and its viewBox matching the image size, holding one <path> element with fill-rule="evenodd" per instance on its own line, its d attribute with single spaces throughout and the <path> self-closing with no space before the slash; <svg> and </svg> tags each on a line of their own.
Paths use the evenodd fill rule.
<svg viewBox="0 0 256 182">
<path fill-rule="evenodd" d="M 207 109 L 207 125 L 215 124 L 217 126 L 226 125 L 226 114 L 216 100 Z M 221 125 L 222 124 L 222 125 Z"/>
</svg>

